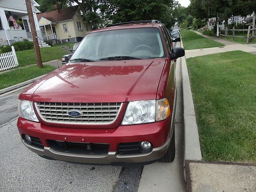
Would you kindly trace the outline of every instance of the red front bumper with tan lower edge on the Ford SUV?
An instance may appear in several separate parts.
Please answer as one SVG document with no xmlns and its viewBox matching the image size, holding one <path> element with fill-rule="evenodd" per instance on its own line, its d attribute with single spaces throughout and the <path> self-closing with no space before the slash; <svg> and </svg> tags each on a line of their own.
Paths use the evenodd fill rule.
<svg viewBox="0 0 256 192">
<path fill-rule="evenodd" d="M 20 136 L 26 134 L 40 139 L 43 148 L 38 148 L 23 143 L 30 151 L 49 157 L 50 159 L 70 161 L 77 163 L 111 164 L 111 163 L 142 163 L 155 161 L 161 158 L 169 147 L 170 142 L 170 122 L 171 116 L 167 119 L 146 124 L 120 125 L 115 129 L 75 129 L 67 127 L 47 126 L 40 122 L 32 122 L 23 118 L 18 118 L 17 127 Z M 84 140 L 82 140 L 84 139 Z M 104 155 L 81 155 L 72 153 L 62 153 L 53 150 L 48 140 L 87 142 L 87 143 L 108 143 L 109 152 Z M 131 143 L 149 141 L 153 145 L 153 150 L 148 153 L 133 155 L 119 155 L 118 145 L 120 143 Z"/>
</svg>

